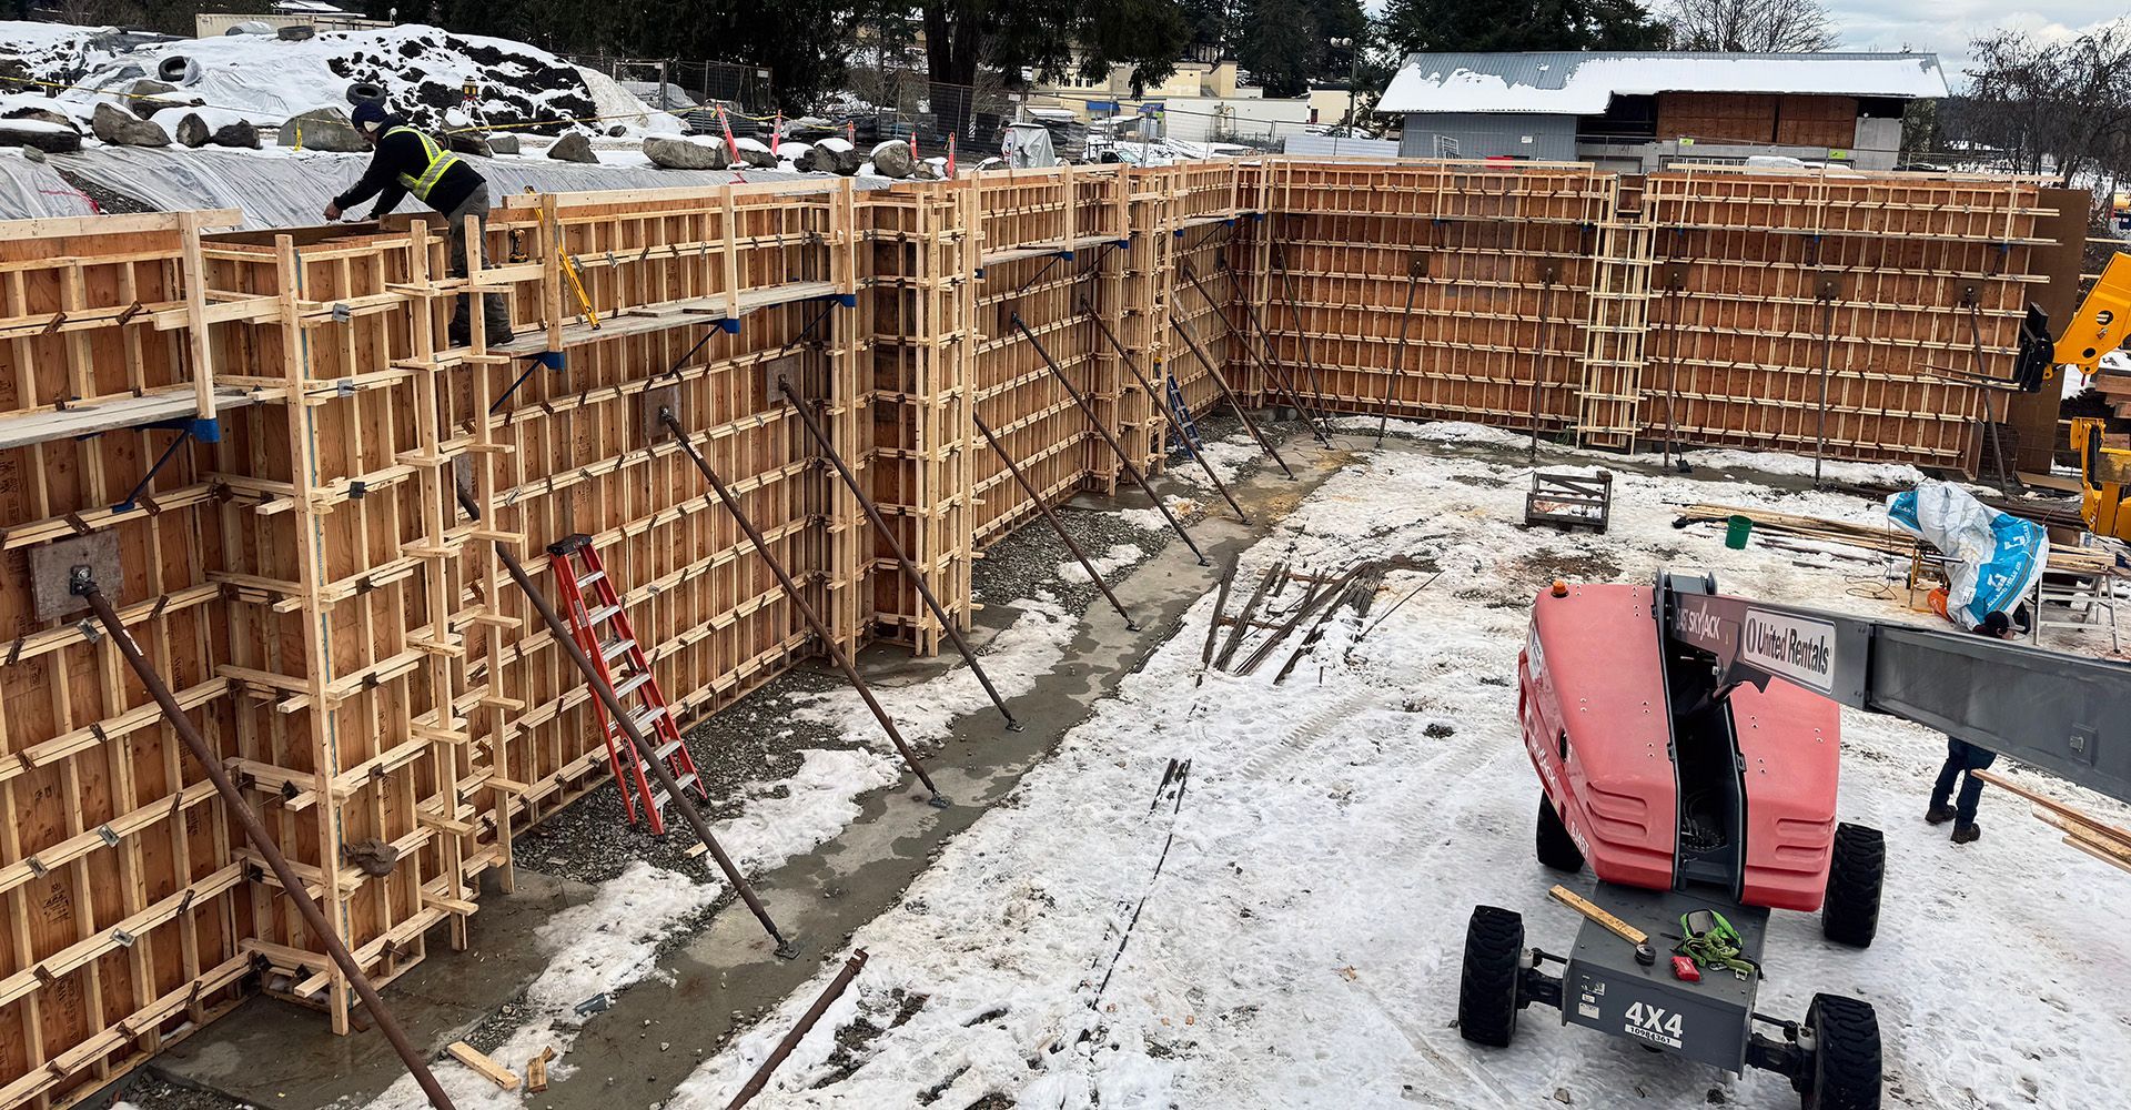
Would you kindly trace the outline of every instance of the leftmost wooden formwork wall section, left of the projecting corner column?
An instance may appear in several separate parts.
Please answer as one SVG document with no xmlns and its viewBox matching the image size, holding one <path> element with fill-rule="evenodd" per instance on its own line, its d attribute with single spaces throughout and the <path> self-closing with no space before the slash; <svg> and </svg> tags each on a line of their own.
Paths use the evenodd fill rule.
<svg viewBox="0 0 2131 1110">
<path fill-rule="evenodd" d="M 185 326 L 202 305 L 185 275 L 198 226 L 230 217 L 0 234 L 0 1106 L 94 1089 L 224 1012 L 249 974 L 260 895 L 222 801 L 109 637 L 36 614 L 28 558 L 115 543 L 128 633 L 234 754 L 232 605 L 207 573 L 228 496 L 213 445 L 181 428 L 64 435 L 130 405 L 196 413 L 207 375 Z"/>
</svg>

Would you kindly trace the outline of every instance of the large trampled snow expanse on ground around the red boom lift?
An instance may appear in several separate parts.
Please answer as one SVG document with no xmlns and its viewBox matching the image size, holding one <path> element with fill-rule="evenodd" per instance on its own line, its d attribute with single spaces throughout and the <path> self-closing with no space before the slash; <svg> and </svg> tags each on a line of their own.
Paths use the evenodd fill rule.
<svg viewBox="0 0 2131 1110">
<path fill-rule="evenodd" d="M 1530 944 L 1551 950 L 1579 920 L 1545 897 L 1553 876 L 1532 859 L 1539 784 L 1513 686 L 1528 605 L 1556 575 L 1641 582 L 1671 565 L 1758 597 L 1937 618 L 1873 597 L 1856 565 L 1728 552 L 1720 528 L 1675 530 L 1671 509 L 1873 520 L 1869 501 L 1622 473 L 1611 535 L 1566 537 L 1517 526 L 1526 475 L 1466 447 L 1394 443 L 1330 479 L 1242 558 L 1238 582 L 1283 558 L 1385 556 L 1432 562 L 1441 580 L 1392 611 L 1430 571 L 1389 573 L 1370 616 L 1383 622 L 1357 639 L 1343 614 L 1283 686 L 1272 669 L 1195 686 L 1213 620 L 1200 599 L 1117 697 L 852 937 L 872 961 L 752 1106 L 1796 1106 L 1779 1076 L 1726 1078 L 1545 1010 L 1509 1050 L 1451 1027 L 1475 903 L 1522 910 Z M 1803 1016 L 1816 991 L 1877 1006 L 1888 1106 L 2120 1106 L 2131 884 L 2003 793 L 1984 795 L 1984 839 L 1952 846 L 1920 820 L 1943 739 L 1860 714 L 1843 731 L 1841 816 L 1888 835 L 1880 940 L 1837 950 L 1813 916 L 1775 914 L 1760 1010 Z M 1159 795 L 1178 758 L 1191 761 L 1181 799 Z M 2127 820 L 2097 795 L 2056 793 Z M 829 974 L 667 1108 L 725 1106 Z M 889 1027 L 908 995 L 925 1006 L 861 1044 L 857 1070 L 825 1065 L 840 1027 Z"/>
</svg>

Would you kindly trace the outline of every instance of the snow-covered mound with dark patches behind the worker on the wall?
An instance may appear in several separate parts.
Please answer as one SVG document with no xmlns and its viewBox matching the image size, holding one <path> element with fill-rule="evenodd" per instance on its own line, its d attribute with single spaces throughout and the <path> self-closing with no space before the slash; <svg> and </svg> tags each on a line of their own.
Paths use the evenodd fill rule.
<svg viewBox="0 0 2131 1110">
<path fill-rule="evenodd" d="M 0 38 L 6 36 L 0 30 Z M 126 92 L 143 77 L 158 77 L 168 60 L 185 62 L 185 79 L 168 96 L 198 98 L 254 121 L 324 107 L 345 111 L 349 85 L 367 83 L 381 87 L 386 102 L 422 128 L 448 126 L 448 113 L 458 111 L 475 126 L 524 126 L 535 134 L 556 134 L 569 119 L 603 115 L 627 115 L 616 124 L 637 130 L 678 128 L 612 81 L 595 89 L 584 70 L 543 49 L 422 23 L 322 32 L 296 43 L 258 34 L 149 43 L 90 68 L 81 77 L 87 89 L 64 98 L 94 102 L 92 89 Z M 465 98 L 469 83 L 477 87 L 471 104 Z"/>
</svg>

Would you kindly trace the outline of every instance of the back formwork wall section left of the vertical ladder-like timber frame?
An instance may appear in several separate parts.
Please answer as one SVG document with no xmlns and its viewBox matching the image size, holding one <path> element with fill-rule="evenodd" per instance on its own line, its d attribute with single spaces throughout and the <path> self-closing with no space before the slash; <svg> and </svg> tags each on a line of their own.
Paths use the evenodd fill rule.
<svg viewBox="0 0 2131 1110">
<path fill-rule="evenodd" d="M 1536 418 L 1549 432 L 1579 420 L 1613 175 L 1460 162 L 1268 173 L 1264 234 L 1294 273 L 1294 303 L 1270 290 L 1266 328 L 1298 388 L 1336 411 L 1389 398 L 1404 418 Z"/>
</svg>

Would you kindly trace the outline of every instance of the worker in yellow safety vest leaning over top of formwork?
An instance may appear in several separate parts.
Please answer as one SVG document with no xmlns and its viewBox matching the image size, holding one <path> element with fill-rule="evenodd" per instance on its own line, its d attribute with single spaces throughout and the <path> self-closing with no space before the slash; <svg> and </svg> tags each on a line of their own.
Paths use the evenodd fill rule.
<svg viewBox="0 0 2131 1110">
<path fill-rule="evenodd" d="M 371 168 L 341 196 L 326 205 L 326 219 L 339 219 L 369 198 L 377 198 L 371 219 L 398 207 L 407 194 L 443 213 L 445 239 L 452 254 L 452 277 L 467 277 L 467 217 L 479 219 L 482 264 L 488 264 L 488 179 L 465 158 L 443 149 L 435 138 L 413 130 L 405 119 L 386 111 L 377 100 L 356 104 L 352 113 L 356 132 L 371 145 Z M 511 313 L 499 294 L 482 296 L 482 320 L 486 322 L 488 345 L 509 343 Z M 471 343 L 471 322 L 467 320 L 467 298 L 458 298 L 452 313 L 450 341 L 454 347 Z"/>
</svg>

